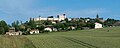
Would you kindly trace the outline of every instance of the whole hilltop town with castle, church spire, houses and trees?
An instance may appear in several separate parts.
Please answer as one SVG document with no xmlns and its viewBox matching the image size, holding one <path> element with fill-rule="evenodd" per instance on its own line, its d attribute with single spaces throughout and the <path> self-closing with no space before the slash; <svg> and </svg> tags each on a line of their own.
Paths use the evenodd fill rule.
<svg viewBox="0 0 120 48">
<path fill-rule="evenodd" d="M 12 25 L 7 25 L 5 21 L 1 21 L 1 33 L 5 35 L 29 35 L 47 32 L 59 32 L 70 30 L 86 30 L 98 29 L 104 27 L 119 26 L 119 20 L 110 19 L 104 20 L 96 15 L 96 18 L 67 18 L 66 14 L 49 16 L 47 18 L 30 18 L 30 20 L 22 23 L 15 21 Z"/>
</svg>

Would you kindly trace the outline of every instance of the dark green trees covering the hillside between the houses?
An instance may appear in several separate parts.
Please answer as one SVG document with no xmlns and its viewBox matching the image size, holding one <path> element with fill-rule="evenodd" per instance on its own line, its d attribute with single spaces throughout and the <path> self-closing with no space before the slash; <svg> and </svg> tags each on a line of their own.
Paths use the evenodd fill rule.
<svg viewBox="0 0 120 48">
<path fill-rule="evenodd" d="M 50 16 L 49 18 L 53 18 L 53 16 Z M 45 27 L 54 27 L 57 28 L 59 31 L 61 30 L 71 30 L 71 26 L 78 29 L 83 29 L 83 27 L 88 27 L 90 29 L 94 28 L 95 22 L 101 23 L 104 26 L 112 26 L 114 23 L 118 22 L 119 20 L 110 19 L 108 18 L 105 22 L 101 22 L 98 19 L 92 19 L 92 18 L 73 18 L 71 21 L 66 18 L 62 21 L 55 21 L 56 24 L 52 23 L 49 20 L 46 21 L 34 21 L 32 18 L 30 18 L 29 21 L 26 21 L 25 23 L 22 23 L 22 21 L 14 21 L 11 25 L 8 25 L 5 21 L 0 21 L 0 34 L 5 34 L 10 27 L 15 27 L 15 31 L 22 31 L 24 34 L 29 34 L 29 31 L 31 29 L 38 29 L 40 31 L 43 31 Z"/>
</svg>

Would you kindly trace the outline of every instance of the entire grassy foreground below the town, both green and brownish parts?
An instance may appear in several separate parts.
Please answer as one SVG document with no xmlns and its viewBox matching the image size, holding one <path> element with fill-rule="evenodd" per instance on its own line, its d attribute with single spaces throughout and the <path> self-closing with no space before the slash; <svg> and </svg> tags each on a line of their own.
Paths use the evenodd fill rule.
<svg viewBox="0 0 120 48">
<path fill-rule="evenodd" d="M 120 27 L 0 36 L 0 48 L 120 48 Z"/>
</svg>

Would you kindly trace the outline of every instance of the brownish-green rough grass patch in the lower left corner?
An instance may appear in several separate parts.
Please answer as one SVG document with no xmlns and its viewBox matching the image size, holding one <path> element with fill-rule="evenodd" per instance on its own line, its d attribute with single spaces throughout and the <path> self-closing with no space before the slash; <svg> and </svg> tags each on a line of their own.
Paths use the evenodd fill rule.
<svg viewBox="0 0 120 48">
<path fill-rule="evenodd" d="M 36 48 L 36 47 L 26 37 L 1 35 L 0 48 Z"/>
</svg>

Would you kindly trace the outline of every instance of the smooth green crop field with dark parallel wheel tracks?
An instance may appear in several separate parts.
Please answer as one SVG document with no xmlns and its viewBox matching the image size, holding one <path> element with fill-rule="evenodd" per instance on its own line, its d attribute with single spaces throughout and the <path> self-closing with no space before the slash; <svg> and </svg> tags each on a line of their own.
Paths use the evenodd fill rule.
<svg viewBox="0 0 120 48">
<path fill-rule="evenodd" d="M 120 27 L 29 35 L 36 48 L 120 48 Z"/>
</svg>

